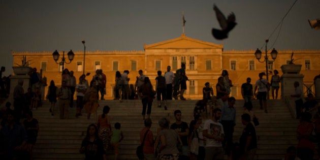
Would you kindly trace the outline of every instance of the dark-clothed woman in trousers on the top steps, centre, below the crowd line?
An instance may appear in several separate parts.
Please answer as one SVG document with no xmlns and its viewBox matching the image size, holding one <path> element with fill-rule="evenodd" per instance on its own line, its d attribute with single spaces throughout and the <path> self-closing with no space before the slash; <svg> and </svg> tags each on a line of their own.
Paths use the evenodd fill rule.
<svg viewBox="0 0 320 160">
<path fill-rule="evenodd" d="M 150 118 L 152 102 L 155 95 L 155 91 L 153 90 L 153 86 L 150 82 L 149 77 L 144 78 L 144 84 L 141 85 L 139 89 L 139 94 L 142 101 L 142 116 L 144 120 L 146 115 L 147 105 L 148 105 L 147 117 Z"/>
</svg>

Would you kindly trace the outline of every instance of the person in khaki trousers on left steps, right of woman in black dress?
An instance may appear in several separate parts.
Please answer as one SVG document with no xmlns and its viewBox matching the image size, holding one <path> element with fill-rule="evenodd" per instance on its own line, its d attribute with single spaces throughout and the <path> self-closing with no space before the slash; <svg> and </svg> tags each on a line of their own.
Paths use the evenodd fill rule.
<svg viewBox="0 0 320 160">
<path fill-rule="evenodd" d="M 69 111 L 69 101 L 70 101 L 71 91 L 67 87 L 67 82 L 62 81 L 62 86 L 57 90 L 57 97 L 59 98 L 59 111 L 60 111 L 60 119 L 68 118 Z"/>
</svg>

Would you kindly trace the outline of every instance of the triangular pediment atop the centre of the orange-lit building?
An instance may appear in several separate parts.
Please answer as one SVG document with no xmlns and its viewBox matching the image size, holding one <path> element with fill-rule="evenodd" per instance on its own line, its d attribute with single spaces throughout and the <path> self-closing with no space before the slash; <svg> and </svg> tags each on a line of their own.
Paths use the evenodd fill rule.
<svg viewBox="0 0 320 160">
<path fill-rule="evenodd" d="M 214 44 L 210 42 L 205 42 L 193 38 L 188 38 L 184 34 L 181 35 L 181 37 L 158 42 L 150 45 L 144 45 L 144 49 L 197 49 L 197 48 L 210 48 L 210 49 L 222 49 L 223 44 Z"/>
</svg>

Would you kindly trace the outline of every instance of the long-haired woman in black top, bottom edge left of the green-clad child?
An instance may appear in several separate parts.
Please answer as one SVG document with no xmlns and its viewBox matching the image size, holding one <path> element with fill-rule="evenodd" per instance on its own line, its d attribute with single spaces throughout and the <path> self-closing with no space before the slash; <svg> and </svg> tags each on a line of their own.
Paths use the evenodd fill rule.
<svg viewBox="0 0 320 160">
<path fill-rule="evenodd" d="M 98 138 L 97 126 L 90 124 L 87 128 L 87 134 L 81 143 L 80 153 L 85 154 L 86 160 L 106 160 L 106 152 L 103 149 L 103 143 Z"/>
</svg>

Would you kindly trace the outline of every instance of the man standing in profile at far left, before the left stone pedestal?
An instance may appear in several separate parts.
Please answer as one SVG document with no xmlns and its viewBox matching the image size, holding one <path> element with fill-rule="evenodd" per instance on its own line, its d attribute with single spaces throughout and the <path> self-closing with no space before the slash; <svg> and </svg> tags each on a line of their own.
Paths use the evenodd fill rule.
<svg viewBox="0 0 320 160">
<path fill-rule="evenodd" d="M 20 117 L 22 114 L 22 109 L 24 109 L 24 89 L 23 89 L 23 79 L 18 80 L 18 84 L 13 91 L 13 106 L 15 113 L 15 120 L 17 124 L 20 124 Z"/>
</svg>

